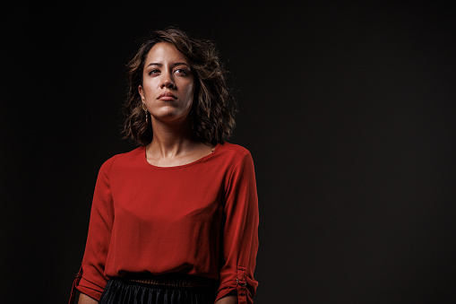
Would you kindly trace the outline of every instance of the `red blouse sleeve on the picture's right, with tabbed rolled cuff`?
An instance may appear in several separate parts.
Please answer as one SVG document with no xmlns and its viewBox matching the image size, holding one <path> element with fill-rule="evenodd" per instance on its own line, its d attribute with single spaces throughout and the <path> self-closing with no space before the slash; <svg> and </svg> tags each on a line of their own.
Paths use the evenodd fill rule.
<svg viewBox="0 0 456 304">
<path fill-rule="evenodd" d="M 237 291 L 238 304 L 253 303 L 258 282 L 254 267 L 258 251 L 258 197 L 254 161 L 245 151 L 237 161 L 225 194 L 224 265 L 220 269 L 217 300 Z"/>
</svg>

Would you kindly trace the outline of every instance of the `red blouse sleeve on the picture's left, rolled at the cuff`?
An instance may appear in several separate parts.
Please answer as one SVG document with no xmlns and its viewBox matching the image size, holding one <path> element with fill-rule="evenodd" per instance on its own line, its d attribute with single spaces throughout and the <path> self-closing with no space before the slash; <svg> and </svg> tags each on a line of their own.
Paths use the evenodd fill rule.
<svg viewBox="0 0 456 304">
<path fill-rule="evenodd" d="M 82 277 L 76 286 L 79 291 L 95 300 L 99 300 L 108 282 L 105 264 L 114 222 L 109 170 L 114 159 L 109 159 L 99 169 L 90 211 L 89 233 L 82 259 Z"/>
</svg>

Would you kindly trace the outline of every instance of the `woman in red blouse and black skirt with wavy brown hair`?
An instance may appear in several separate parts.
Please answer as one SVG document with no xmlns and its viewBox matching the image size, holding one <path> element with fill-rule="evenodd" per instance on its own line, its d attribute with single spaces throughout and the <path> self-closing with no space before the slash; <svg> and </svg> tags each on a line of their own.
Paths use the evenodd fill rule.
<svg viewBox="0 0 456 304">
<path fill-rule="evenodd" d="M 128 65 L 125 137 L 99 170 L 82 268 L 87 303 L 252 303 L 258 202 L 210 41 L 154 31 Z M 74 292 L 72 291 L 72 298 Z"/>
</svg>

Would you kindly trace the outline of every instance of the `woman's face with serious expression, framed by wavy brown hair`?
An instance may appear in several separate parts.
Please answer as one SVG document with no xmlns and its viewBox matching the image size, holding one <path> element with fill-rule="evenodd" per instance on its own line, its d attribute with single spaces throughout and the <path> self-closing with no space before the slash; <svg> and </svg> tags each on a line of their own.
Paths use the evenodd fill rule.
<svg viewBox="0 0 456 304">
<path fill-rule="evenodd" d="M 184 54 L 168 42 L 154 45 L 147 55 L 138 90 L 152 123 L 187 119 L 194 99 L 194 74 Z"/>
</svg>

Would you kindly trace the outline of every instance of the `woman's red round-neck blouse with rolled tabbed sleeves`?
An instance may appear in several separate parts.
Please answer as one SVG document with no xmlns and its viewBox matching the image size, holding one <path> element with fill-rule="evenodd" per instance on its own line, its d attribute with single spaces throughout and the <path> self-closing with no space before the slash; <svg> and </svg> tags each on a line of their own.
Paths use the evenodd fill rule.
<svg viewBox="0 0 456 304">
<path fill-rule="evenodd" d="M 220 281 L 216 301 L 236 290 L 239 304 L 253 303 L 257 250 L 250 152 L 223 143 L 198 161 L 156 167 L 142 146 L 99 169 L 75 284 L 99 300 L 109 277 L 194 274 Z"/>
</svg>

